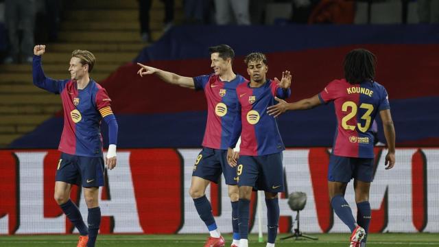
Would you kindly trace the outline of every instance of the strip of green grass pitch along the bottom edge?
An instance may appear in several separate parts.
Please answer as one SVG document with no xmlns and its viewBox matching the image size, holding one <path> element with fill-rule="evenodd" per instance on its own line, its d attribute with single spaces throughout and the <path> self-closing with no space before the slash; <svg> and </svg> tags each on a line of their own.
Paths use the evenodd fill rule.
<svg viewBox="0 0 439 247">
<path fill-rule="evenodd" d="M 313 234 L 318 237 L 317 241 L 312 240 L 281 240 L 286 234 L 278 235 L 276 246 L 293 246 L 293 247 L 313 247 L 313 246 L 349 246 L 347 234 Z M 224 235 L 226 238 L 226 247 L 230 246 L 231 235 Z M 266 237 L 266 236 L 264 236 Z M 13 235 L 0 236 L 0 246 L 2 247 L 68 247 L 76 246 L 77 235 Z M 97 247 L 187 247 L 203 246 L 206 235 L 99 235 L 97 238 Z M 266 239 L 265 239 L 266 240 Z M 250 246 L 264 247 L 264 243 L 258 242 L 257 235 L 250 235 Z M 439 246 L 439 234 L 433 233 L 381 233 L 371 234 L 368 238 L 368 247 L 374 246 Z"/>
</svg>

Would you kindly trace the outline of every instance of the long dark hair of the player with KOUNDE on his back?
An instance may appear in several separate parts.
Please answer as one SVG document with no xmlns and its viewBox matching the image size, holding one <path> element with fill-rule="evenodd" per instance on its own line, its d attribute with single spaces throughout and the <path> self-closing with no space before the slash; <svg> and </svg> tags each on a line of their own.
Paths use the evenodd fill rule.
<svg viewBox="0 0 439 247">
<path fill-rule="evenodd" d="M 360 84 L 375 78 L 377 57 L 366 49 L 354 49 L 344 57 L 344 78 L 351 84 Z"/>
</svg>

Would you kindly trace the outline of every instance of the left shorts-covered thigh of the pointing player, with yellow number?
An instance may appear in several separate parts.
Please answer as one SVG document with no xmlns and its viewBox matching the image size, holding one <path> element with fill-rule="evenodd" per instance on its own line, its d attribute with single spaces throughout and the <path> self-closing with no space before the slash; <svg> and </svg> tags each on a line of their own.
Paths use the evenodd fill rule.
<svg viewBox="0 0 439 247">
<path fill-rule="evenodd" d="M 222 174 L 222 167 L 217 150 L 212 148 L 203 148 L 198 154 L 195 164 L 193 165 L 192 176 L 197 176 L 213 183 L 218 183 Z"/>
</svg>

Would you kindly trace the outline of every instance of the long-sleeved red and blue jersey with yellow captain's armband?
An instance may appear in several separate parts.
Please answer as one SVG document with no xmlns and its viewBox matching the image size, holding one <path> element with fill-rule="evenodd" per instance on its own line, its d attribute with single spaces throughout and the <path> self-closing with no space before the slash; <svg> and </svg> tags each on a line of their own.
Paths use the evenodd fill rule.
<svg viewBox="0 0 439 247">
<path fill-rule="evenodd" d="M 40 89 L 61 95 L 64 128 L 58 150 L 78 156 L 102 156 L 100 124 L 103 117 L 112 114 L 106 90 L 92 79 L 84 89 L 78 90 L 74 80 L 47 78 L 41 56 L 34 56 L 32 74 L 34 84 Z"/>
</svg>

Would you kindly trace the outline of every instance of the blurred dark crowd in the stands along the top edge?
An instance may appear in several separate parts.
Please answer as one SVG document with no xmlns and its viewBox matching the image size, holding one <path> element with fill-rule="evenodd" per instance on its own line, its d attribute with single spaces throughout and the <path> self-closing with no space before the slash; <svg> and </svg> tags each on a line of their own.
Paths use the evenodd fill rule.
<svg viewBox="0 0 439 247">
<path fill-rule="evenodd" d="M 62 11 L 87 0 L 0 0 L 0 59 L 32 62 L 35 43 L 57 40 Z M 163 30 L 174 23 L 174 0 L 137 0 L 140 40 L 150 42 L 152 1 L 165 6 Z M 178 1 L 178 0 L 176 0 Z M 439 0 L 182 0 L 179 25 L 283 25 L 287 23 L 439 23 Z"/>
</svg>

